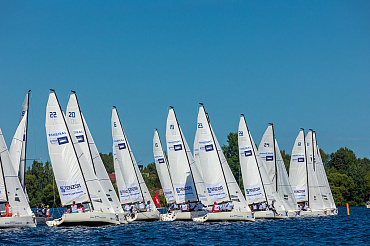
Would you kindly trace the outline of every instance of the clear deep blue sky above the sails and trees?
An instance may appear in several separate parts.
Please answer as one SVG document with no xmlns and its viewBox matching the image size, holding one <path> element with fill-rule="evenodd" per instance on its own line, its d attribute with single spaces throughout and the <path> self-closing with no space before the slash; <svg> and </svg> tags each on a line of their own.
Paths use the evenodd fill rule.
<svg viewBox="0 0 370 246">
<path fill-rule="evenodd" d="M 28 158 L 49 159 L 49 88 L 70 90 L 100 152 L 117 106 L 140 164 L 174 106 L 190 147 L 203 102 L 220 144 L 244 113 L 291 153 L 299 128 L 325 152 L 370 157 L 369 1 L 0 1 L 0 127 L 7 144 L 32 90 Z"/>
</svg>

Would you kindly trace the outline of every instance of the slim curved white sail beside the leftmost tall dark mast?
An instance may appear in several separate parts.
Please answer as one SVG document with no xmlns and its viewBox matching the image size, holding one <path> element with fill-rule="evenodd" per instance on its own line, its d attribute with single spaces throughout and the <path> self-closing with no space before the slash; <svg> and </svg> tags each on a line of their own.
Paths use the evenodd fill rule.
<svg viewBox="0 0 370 246">
<path fill-rule="evenodd" d="M 27 111 L 24 114 L 25 117 L 20 121 L 17 130 L 13 136 L 12 143 L 10 145 L 9 154 L 13 164 L 13 168 L 16 174 L 19 173 L 21 156 L 23 145 L 25 144 L 25 132 L 27 127 Z"/>
</svg>

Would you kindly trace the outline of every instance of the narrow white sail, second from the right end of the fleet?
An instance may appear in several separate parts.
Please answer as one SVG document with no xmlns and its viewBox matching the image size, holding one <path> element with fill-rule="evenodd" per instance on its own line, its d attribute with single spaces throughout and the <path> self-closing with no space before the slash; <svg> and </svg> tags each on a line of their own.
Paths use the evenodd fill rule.
<svg viewBox="0 0 370 246">
<path fill-rule="evenodd" d="M 317 176 L 315 173 L 316 169 L 316 159 L 315 159 L 315 149 L 316 145 L 313 142 L 312 131 L 309 131 L 306 136 L 306 153 L 307 153 L 307 172 L 308 172 L 308 206 L 312 209 L 324 209 L 324 200 L 321 194 L 321 189 Z"/>
</svg>

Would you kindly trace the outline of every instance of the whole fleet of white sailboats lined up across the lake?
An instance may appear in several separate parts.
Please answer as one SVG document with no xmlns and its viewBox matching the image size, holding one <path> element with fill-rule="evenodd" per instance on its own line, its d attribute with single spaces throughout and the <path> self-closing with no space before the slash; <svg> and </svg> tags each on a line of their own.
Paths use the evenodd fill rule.
<svg viewBox="0 0 370 246">
<path fill-rule="evenodd" d="M 0 228 L 36 227 L 37 224 L 25 187 L 29 97 L 30 91 L 23 102 L 9 151 L 0 130 L 0 209 L 7 211 L 0 217 Z M 65 112 L 55 91 L 50 90 L 45 120 L 49 156 L 61 203 L 68 210 L 61 218 L 47 221 L 49 226 L 118 225 L 158 219 L 254 221 L 338 214 L 313 130 L 306 136 L 304 129 L 298 133 L 288 176 L 273 124 L 267 127 L 257 149 L 245 117 L 241 115 L 238 148 L 242 192 L 204 105 L 199 106 L 193 153 L 175 110 L 170 107 L 166 151 L 157 129 L 153 137 L 155 166 L 170 205 L 160 214 L 134 158 L 116 107 L 112 109 L 111 127 L 118 195 L 74 91 Z"/>
</svg>

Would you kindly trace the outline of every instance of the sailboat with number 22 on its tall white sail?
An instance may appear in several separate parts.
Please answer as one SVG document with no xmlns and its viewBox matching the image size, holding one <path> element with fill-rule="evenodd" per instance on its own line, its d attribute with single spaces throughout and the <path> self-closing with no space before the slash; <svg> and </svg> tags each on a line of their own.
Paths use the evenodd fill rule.
<svg viewBox="0 0 370 246">
<path fill-rule="evenodd" d="M 110 202 L 82 151 L 78 138 L 67 124 L 54 90 L 46 106 L 46 135 L 49 156 L 62 206 L 73 203 L 84 207 L 83 213 L 67 213 L 47 221 L 48 226 L 100 226 L 120 224 Z"/>
</svg>

